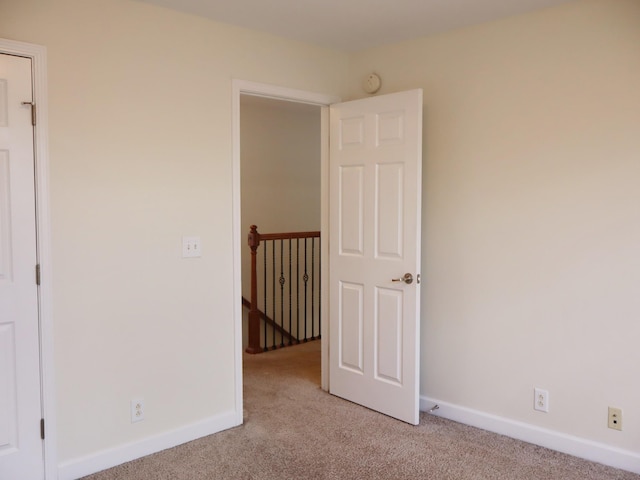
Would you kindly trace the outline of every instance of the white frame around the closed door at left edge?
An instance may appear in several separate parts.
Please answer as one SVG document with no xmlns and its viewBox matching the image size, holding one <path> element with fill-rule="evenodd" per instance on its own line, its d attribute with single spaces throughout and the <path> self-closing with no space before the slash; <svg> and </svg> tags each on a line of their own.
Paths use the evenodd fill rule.
<svg viewBox="0 0 640 480">
<path fill-rule="evenodd" d="M 37 109 L 35 136 L 35 192 L 38 263 L 40 288 L 40 381 L 42 415 L 45 419 L 45 478 L 57 478 L 55 381 L 53 357 L 53 309 L 51 303 L 51 216 L 49 210 L 49 146 L 47 123 L 47 49 L 40 45 L 0 38 L 0 53 L 30 58 L 33 74 L 33 98 Z"/>
</svg>

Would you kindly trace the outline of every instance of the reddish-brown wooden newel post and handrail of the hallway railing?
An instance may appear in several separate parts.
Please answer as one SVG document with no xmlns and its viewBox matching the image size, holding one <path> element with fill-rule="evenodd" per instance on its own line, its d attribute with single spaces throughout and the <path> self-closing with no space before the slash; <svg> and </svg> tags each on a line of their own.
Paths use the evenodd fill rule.
<svg viewBox="0 0 640 480">
<path fill-rule="evenodd" d="M 247 238 L 247 243 L 249 248 L 251 249 L 251 297 L 247 302 L 249 307 L 249 325 L 248 325 L 248 337 L 249 342 L 246 348 L 247 353 L 261 353 L 264 349 L 260 346 L 260 320 L 264 318 L 268 318 L 265 313 L 261 312 L 258 309 L 258 280 L 257 280 L 257 251 L 261 242 L 264 241 L 277 241 L 277 240 L 294 240 L 294 239 L 307 239 L 307 238 L 319 238 L 319 231 L 308 231 L 308 232 L 286 232 L 286 233 L 266 233 L 261 234 L 258 232 L 258 227 L 256 225 L 251 225 L 249 235 Z M 306 274 L 305 274 L 306 275 Z M 306 280 L 305 280 L 306 282 Z M 266 287 L 265 287 L 266 288 Z M 270 324 L 276 331 L 282 334 L 284 346 L 284 337 L 286 336 L 289 340 L 289 344 L 291 345 L 295 340 L 291 334 L 291 332 L 286 332 L 283 328 L 284 326 L 277 325 L 276 322 L 271 320 L 271 322 L 267 321 L 267 324 Z M 274 327 L 277 325 L 277 327 Z M 283 333 L 285 332 L 285 333 Z M 306 341 L 306 323 L 305 323 L 305 340 Z"/>
</svg>

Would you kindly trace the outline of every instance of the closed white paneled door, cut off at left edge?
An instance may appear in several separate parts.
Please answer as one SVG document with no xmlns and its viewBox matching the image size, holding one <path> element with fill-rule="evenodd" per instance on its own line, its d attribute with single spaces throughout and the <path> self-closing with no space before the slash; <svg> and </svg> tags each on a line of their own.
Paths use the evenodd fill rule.
<svg viewBox="0 0 640 480">
<path fill-rule="evenodd" d="M 0 54 L 2 479 L 44 478 L 32 98 L 31 59 Z"/>
</svg>

